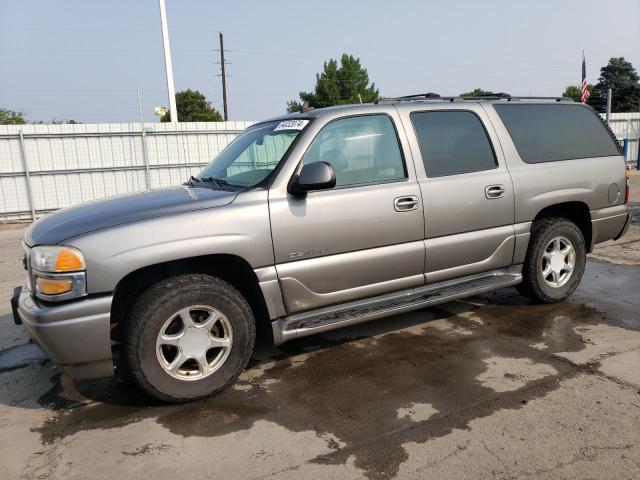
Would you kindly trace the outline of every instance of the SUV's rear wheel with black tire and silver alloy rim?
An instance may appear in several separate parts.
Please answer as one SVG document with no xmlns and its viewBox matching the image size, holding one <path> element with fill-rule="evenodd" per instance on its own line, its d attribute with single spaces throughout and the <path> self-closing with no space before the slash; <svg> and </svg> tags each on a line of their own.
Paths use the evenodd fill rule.
<svg viewBox="0 0 640 480">
<path fill-rule="evenodd" d="M 573 257 L 570 254 L 564 254 L 566 267 L 561 266 L 563 254 L 556 253 L 558 249 L 556 239 L 560 242 L 560 252 L 567 251 L 568 244 L 573 247 Z M 580 284 L 586 258 L 584 236 L 575 223 L 566 218 L 557 217 L 538 220 L 534 222 L 531 230 L 531 240 L 522 268 L 522 283 L 516 288 L 521 295 L 536 302 L 553 303 L 563 300 Z M 564 274 L 571 263 L 573 263 L 573 270 L 565 278 Z M 546 276 L 544 273 L 548 270 L 545 267 L 551 270 Z M 559 268 L 567 268 L 567 270 L 560 270 L 558 274 Z"/>
</svg>

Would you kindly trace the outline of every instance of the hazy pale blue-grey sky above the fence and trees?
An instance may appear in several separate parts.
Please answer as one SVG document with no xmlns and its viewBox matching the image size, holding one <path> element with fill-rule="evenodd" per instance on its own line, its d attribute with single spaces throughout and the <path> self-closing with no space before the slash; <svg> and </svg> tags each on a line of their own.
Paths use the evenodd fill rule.
<svg viewBox="0 0 640 480">
<path fill-rule="evenodd" d="M 474 88 L 561 95 L 610 57 L 640 68 L 640 0 L 166 0 L 176 91 L 230 120 L 286 111 L 323 62 L 359 57 L 384 96 Z M 0 107 L 29 120 L 158 121 L 168 105 L 158 0 L 0 0 Z"/>
</svg>

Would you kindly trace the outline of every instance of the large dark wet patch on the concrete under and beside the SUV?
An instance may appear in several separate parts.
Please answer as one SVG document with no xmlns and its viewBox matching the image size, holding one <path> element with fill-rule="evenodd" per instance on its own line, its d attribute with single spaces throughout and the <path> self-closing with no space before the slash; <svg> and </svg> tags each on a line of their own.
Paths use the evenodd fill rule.
<svg viewBox="0 0 640 480">
<path fill-rule="evenodd" d="M 52 443 L 153 419 L 175 435 L 219 437 L 269 422 L 315 432 L 330 453 L 314 463 L 353 461 L 371 479 L 392 478 L 407 459 L 407 441 L 424 443 L 521 408 L 575 375 L 578 367 L 550 354 L 585 349 L 577 327 L 640 328 L 627 296 L 637 270 L 590 262 L 580 290 L 558 304 L 532 305 L 508 289 L 261 347 L 235 388 L 186 405 L 159 405 L 114 380 L 63 381 L 47 401 L 75 403 L 59 402 L 36 431 Z"/>
</svg>

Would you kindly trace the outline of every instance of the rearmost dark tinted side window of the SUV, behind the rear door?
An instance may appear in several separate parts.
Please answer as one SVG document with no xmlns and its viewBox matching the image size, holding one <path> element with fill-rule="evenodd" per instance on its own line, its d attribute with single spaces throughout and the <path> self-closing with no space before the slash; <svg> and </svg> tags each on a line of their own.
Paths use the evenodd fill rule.
<svg viewBox="0 0 640 480">
<path fill-rule="evenodd" d="M 619 155 L 596 114 L 581 105 L 494 105 L 527 163 Z"/>
</svg>

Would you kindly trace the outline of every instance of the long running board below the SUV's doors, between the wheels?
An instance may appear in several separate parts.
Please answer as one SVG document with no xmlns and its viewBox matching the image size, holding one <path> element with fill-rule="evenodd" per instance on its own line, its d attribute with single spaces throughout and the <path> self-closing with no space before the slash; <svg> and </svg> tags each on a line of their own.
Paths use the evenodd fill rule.
<svg viewBox="0 0 640 480">
<path fill-rule="evenodd" d="M 460 298 L 479 295 L 522 281 L 522 266 L 495 270 L 388 293 L 364 300 L 324 307 L 282 317 L 272 323 L 275 345 L 294 338 L 306 337 L 336 328 L 367 322 L 376 318 L 438 305 Z"/>
</svg>

